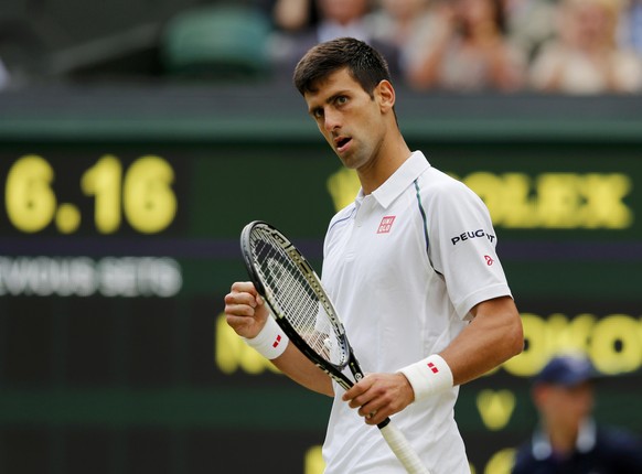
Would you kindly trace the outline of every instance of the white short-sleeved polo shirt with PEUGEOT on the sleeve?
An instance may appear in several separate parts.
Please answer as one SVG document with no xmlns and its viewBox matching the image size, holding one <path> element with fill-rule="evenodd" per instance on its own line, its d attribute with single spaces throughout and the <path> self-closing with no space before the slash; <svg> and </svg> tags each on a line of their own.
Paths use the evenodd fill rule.
<svg viewBox="0 0 642 474">
<path fill-rule="evenodd" d="M 472 306 L 510 295 L 496 241 L 483 202 L 418 151 L 339 212 L 325 236 L 322 280 L 363 370 L 394 373 L 442 351 Z M 470 472 L 453 419 L 458 391 L 393 417 L 434 474 Z M 335 394 L 325 472 L 404 473 L 378 430 L 341 400 L 341 387 Z"/>
</svg>

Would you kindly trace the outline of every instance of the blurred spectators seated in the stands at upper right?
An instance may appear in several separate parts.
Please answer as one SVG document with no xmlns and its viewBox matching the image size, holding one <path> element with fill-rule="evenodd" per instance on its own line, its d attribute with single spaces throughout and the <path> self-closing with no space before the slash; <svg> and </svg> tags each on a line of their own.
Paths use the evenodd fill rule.
<svg viewBox="0 0 642 474">
<path fill-rule="evenodd" d="M 642 91 L 642 0 L 256 0 L 289 77 L 318 42 L 366 41 L 417 90 Z"/>
</svg>

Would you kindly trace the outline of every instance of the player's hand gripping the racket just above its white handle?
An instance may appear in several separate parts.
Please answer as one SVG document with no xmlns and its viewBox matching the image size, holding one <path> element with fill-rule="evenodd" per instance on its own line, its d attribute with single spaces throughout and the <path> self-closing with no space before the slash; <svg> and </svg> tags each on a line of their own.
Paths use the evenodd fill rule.
<svg viewBox="0 0 642 474">
<path fill-rule="evenodd" d="M 368 374 L 342 398 L 367 424 L 378 424 L 410 405 L 415 394 L 403 374 Z"/>
</svg>

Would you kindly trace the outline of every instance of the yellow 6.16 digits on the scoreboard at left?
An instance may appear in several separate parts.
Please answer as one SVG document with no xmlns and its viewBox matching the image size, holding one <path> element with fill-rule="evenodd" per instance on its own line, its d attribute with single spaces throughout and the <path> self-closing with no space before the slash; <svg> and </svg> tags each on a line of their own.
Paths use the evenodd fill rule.
<svg viewBox="0 0 642 474">
<path fill-rule="evenodd" d="M 58 203 L 54 180 L 53 166 L 42 157 L 30 154 L 13 163 L 4 186 L 6 212 L 13 227 L 34 234 L 53 222 L 62 234 L 78 229 L 81 211 L 74 203 Z M 83 172 L 79 185 L 83 194 L 94 197 L 98 233 L 116 233 L 125 218 L 138 233 L 157 234 L 176 214 L 173 181 L 172 166 L 160 157 L 141 157 L 124 171 L 120 160 L 107 154 Z"/>
</svg>

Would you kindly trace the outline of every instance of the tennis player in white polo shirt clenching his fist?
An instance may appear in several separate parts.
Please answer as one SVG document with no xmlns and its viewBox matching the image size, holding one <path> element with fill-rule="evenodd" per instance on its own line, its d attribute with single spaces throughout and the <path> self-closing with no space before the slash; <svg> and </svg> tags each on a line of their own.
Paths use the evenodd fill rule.
<svg viewBox="0 0 642 474">
<path fill-rule="evenodd" d="M 469 473 L 453 417 L 459 386 L 523 348 L 489 212 L 408 148 L 377 51 L 347 37 L 321 43 L 293 80 L 361 182 L 328 227 L 322 281 L 368 375 L 349 391 L 333 386 L 288 344 L 252 283 L 232 286 L 227 322 L 293 380 L 334 397 L 327 473 L 403 473 L 372 427 L 390 416 L 432 473 Z"/>
</svg>

